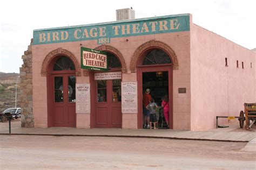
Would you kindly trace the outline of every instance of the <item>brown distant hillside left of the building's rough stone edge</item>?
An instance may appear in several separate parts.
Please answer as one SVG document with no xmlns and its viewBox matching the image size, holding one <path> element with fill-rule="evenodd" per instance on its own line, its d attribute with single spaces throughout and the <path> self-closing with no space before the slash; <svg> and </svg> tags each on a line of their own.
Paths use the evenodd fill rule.
<svg viewBox="0 0 256 170">
<path fill-rule="evenodd" d="M 15 91 L 18 73 L 0 72 L 0 111 L 15 107 Z M 18 79 L 19 80 L 19 79 Z M 19 107 L 19 85 L 17 84 L 17 107 Z"/>
</svg>

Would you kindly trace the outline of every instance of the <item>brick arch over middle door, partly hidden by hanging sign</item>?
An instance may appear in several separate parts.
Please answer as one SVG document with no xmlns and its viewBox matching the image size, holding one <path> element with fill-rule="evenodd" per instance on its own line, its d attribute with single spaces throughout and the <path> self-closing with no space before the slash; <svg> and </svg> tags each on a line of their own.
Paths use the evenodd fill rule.
<svg viewBox="0 0 256 170">
<path fill-rule="evenodd" d="M 121 52 L 118 51 L 117 48 L 114 48 L 113 46 L 110 46 L 110 45 L 103 44 L 103 45 L 100 45 L 100 46 L 96 47 L 95 49 L 98 49 L 100 51 L 111 52 L 114 55 L 116 55 L 117 58 L 119 59 L 119 61 L 121 62 L 122 73 L 126 73 L 127 72 L 124 56 L 123 56 L 123 54 Z"/>
</svg>

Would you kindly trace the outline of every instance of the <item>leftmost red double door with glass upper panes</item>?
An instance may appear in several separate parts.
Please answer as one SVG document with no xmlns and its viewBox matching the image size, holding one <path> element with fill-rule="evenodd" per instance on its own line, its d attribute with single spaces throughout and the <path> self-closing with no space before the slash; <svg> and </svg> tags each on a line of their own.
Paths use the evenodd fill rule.
<svg viewBox="0 0 256 170">
<path fill-rule="evenodd" d="M 76 127 L 76 76 L 72 74 L 55 74 L 52 79 L 52 125 Z"/>
</svg>

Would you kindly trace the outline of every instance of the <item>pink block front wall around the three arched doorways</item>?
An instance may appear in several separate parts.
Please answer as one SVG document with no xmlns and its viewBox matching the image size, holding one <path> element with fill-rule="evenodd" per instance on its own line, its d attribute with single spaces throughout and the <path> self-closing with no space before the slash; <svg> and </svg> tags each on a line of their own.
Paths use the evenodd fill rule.
<svg viewBox="0 0 256 170">
<path fill-rule="evenodd" d="M 126 41 L 129 39 L 129 41 Z M 124 56 L 127 73 L 123 74 L 122 81 L 137 81 L 136 73 L 131 73 L 130 62 L 134 51 L 150 40 L 158 40 L 169 45 L 176 53 L 179 69 L 173 70 L 173 119 L 174 129 L 190 129 L 190 32 L 176 32 L 152 34 L 148 36 L 113 38 L 107 44 L 117 48 Z M 80 63 L 80 44 L 84 47 L 95 48 L 99 46 L 96 40 L 64 42 L 58 44 L 33 45 L 33 114 L 36 127 L 47 127 L 47 96 L 46 77 L 41 76 L 42 63 L 45 56 L 51 51 L 61 47 L 72 52 Z M 77 76 L 77 83 L 89 83 L 89 77 Z M 178 88 L 185 87 L 187 94 L 178 94 Z M 92 87 L 91 87 L 92 88 Z M 89 115 L 77 115 L 77 128 L 90 128 Z M 137 129 L 137 114 L 123 116 L 123 129 Z"/>
</svg>

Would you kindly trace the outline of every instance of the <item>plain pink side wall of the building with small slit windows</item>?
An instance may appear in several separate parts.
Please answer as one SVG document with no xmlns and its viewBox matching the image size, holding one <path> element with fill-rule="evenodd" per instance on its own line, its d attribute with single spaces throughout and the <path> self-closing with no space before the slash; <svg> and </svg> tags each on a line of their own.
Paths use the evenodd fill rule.
<svg viewBox="0 0 256 170">
<path fill-rule="evenodd" d="M 191 130 L 213 129 L 215 116 L 239 116 L 256 102 L 256 53 L 192 22 L 190 46 Z"/>
</svg>

